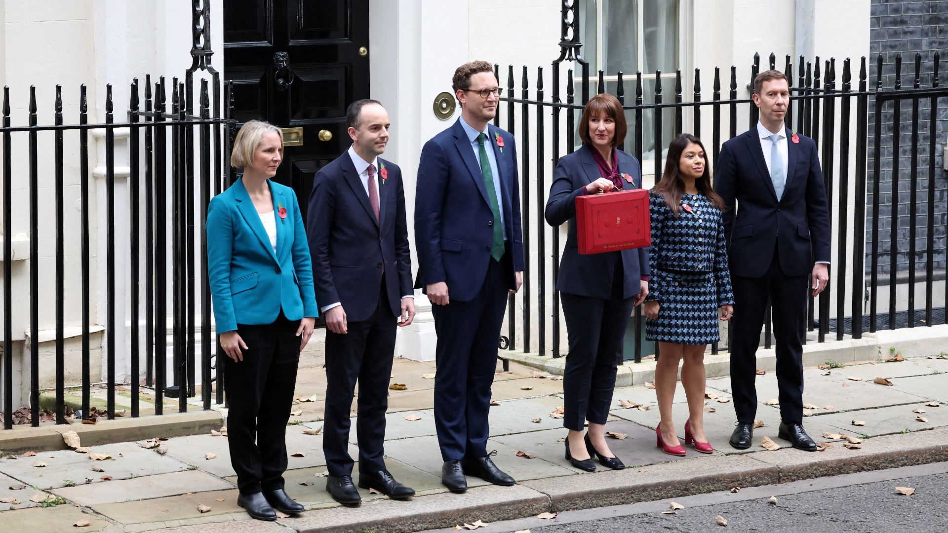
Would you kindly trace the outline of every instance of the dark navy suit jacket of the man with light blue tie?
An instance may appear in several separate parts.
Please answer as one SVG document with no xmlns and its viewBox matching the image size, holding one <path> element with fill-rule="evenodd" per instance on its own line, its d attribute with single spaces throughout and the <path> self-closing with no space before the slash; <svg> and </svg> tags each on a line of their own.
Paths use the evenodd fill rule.
<svg viewBox="0 0 948 533">
<path fill-rule="evenodd" d="M 830 207 L 816 143 L 802 135 L 794 143 L 793 132 L 786 133 L 787 180 L 779 201 L 756 127 L 721 146 L 715 191 L 724 199 L 724 235 L 735 276 L 763 276 L 777 247 L 787 276 L 806 276 L 814 261 L 830 261 Z"/>
</svg>

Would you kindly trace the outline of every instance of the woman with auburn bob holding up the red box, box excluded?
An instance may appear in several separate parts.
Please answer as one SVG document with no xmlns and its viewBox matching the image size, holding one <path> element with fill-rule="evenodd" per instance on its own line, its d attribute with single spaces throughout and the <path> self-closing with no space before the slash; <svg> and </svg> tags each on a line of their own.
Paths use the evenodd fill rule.
<svg viewBox="0 0 948 533">
<path fill-rule="evenodd" d="M 638 159 L 615 148 L 625 137 L 622 104 L 609 94 L 590 99 L 579 122 L 583 145 L 559 158 L 546 204 L 548 224 L 570 223 L 556 281 L 570 345 L 563 377 L 563 426 L 569 430 L 566 458 L 586 471 L 596 469 L 593 455 L 604 467 L 625 468 L 606 444 L 606 418 L 629 316 L 648 294 L 648 248 L 580 254 L 576 197 L 642 186 Z"/>
</svg>

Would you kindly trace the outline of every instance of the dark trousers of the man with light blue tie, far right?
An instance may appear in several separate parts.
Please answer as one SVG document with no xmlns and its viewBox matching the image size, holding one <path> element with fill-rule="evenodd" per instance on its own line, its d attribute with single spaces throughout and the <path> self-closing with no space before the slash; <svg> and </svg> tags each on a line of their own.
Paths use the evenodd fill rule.
<svg viewBox="0 0 948 533">
<path fill-rule="evenodd" d="M 776 380 L 780 418 L 803 423 L 803 339 L 807 325 L 807 276 L 787 276 L 776 250 L 771 266 L 759 278 L 732 276 L 731 391 L 738 422 L 753 423 L 757 414 L 757 346 L 764 310 L 771 300 L 776 337 Z"/>
</svg>

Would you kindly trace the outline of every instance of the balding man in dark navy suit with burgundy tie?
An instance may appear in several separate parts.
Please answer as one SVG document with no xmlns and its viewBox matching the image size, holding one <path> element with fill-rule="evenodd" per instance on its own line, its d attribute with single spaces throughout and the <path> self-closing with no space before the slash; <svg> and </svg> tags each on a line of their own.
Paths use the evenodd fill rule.
<svg viewBox="0 0 948 533">
<path fill-rule="evenodd" d="M 356 380 L 358 486 L 397 499 L 414 495 L 385 468 L 383 442 L 396 323 L 410 324 L 415 309 L 402 173 L 380 157 L 389 114 L 378 101 L 360 100 L 346 120 L 353 145 L 316 174 L 306 232 L 327 329 L 326 489 L 351 505 L 361 500 L 348 450 Z"/>
</svg>

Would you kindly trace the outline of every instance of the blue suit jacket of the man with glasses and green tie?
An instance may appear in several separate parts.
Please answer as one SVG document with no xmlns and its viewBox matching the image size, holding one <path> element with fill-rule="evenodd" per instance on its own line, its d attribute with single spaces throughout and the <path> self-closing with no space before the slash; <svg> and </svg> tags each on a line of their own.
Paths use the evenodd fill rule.
<svg viewBox="0 0 948 533">
<path fill-rule="evenodd" d="M 517 288 L 514 272 L 523 270 L 520 231 L 520 178 L 514 136 L 488 124 L 488 138 L 497 158 L 504 240 L 513 259 L 510 288 Z M 496 138 L 503 139 L 503 148 Z M 447 282 L 448 298 L 470 302 L 477 296 L 494 239 L 493 212 L 487 200 L 481 166 L 460 119 L 425 143 L 418 164 L 415 193 L 415 247 L 418 284 Z"/>
</svg>

